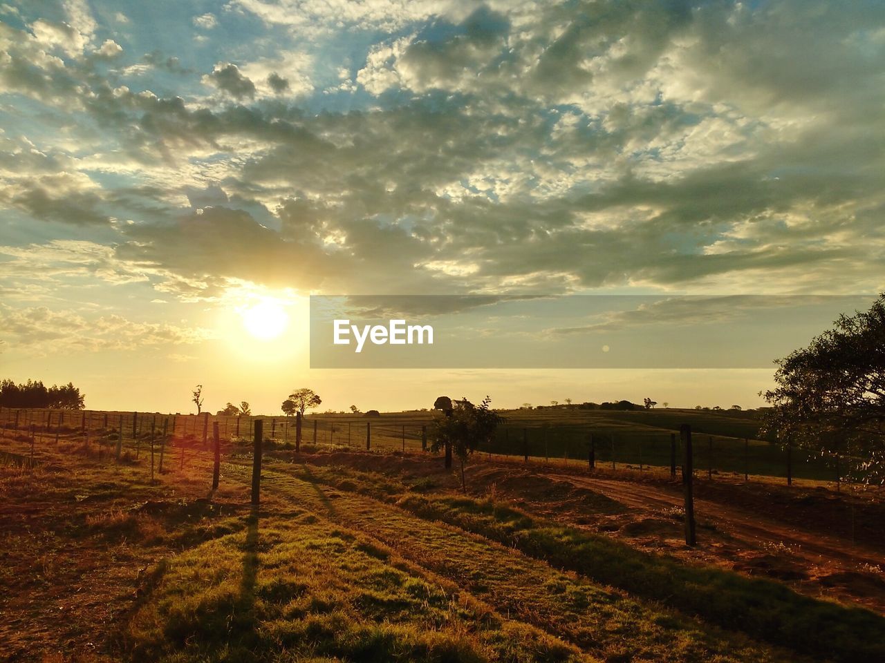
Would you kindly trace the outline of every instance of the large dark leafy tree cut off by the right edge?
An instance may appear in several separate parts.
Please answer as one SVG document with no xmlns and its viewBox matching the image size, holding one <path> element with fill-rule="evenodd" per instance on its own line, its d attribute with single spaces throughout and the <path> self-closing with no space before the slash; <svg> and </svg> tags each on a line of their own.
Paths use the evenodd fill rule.
<svg viewBox="0 0 885 663">
<path fill-rule="evenodd" d="M 885 483 L 885 293 L 776 363 L 763 431 L 823 456 L 844 453 L 855 478 Z"/>
</svg>

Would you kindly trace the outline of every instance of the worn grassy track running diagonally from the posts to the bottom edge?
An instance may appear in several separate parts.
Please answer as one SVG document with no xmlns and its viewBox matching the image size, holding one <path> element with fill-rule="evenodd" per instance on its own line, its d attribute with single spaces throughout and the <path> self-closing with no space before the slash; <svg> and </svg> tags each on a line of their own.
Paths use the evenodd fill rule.
<svg viewBox="0 0 885 663">
<path fill-rule="evenodd" d="M 245 481 L 248 468 L 230 465 L 228 474 Z M 545 629 L 606 661 L 805 660 L 652 602 L 641 603 L 622 591 L 381 501 L 328 490 L 272 469 L 263 469 L 262 477 L 263 490 L 365 532 L 404 559 L 454 581 L 497 612 Z"/>
</svg>

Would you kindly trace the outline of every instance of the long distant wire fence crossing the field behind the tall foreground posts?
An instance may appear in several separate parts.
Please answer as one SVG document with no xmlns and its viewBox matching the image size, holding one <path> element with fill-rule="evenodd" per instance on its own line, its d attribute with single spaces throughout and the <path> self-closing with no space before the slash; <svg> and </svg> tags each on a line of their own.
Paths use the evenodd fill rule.
<svg viewBox="0 0 885 663">
<path fill-rule="evenodd" d="M 414 415 L 305 415 L 298 438 L 298 417 L 259 415 L 225 416 L 201 413 L 164 413 L 61 410 L 40 408 L 0 408 L 3 431 L 30 438 L 32 445 L 48 439 L 58 442 L 59 434 L 81 435 L 98 449 L 112 441 L 136 443 L 162 440 L 176 449 L 206 447 L 218 423 L 219 438 L 230 443 L 246 443 L 254 433 L 254 423 L 264 423 L 263 437 L 270 448 L 312 446 L 369 449 L 402 453 L 429 453 L 435 438 L 432 413 Z M 183 451 L 182 451 L 183 453 Z M 681 469 L 681 440 L 674 431 L 643 431 L 592 423 L 503 423 L 487 445 L 477 449 L 480 456 L 547 462 L 557 465 L 637 469 L 671 467 Z M 182 455 L 183 459 L 183 455 Z M 814 457 L 800 449 L 782 448 L 750 438 L 696 435 L 693 453 L 697 476 L 713 479 L 732 475 L 802 478 L 841 484 L 843 469 L 852 461 L 848 456 Z"/>
</svg>

